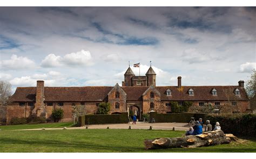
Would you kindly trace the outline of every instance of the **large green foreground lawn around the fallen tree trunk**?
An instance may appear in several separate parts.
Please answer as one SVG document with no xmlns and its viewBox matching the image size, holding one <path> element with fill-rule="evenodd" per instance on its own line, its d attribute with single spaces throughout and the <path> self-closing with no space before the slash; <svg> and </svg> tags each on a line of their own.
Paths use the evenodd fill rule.
<svg viewBox="0 0 256 159">
<path fill-rule="evenodd" d="M 0 131 L 0 153 L 6 152 L 256 152 L 256 141 L 221 144 L 193 149 L 145 150 L 144 139 L 178 137 L 184 131 L 142 129 L 59 129 L 39 131 Z"/>
</svg>

